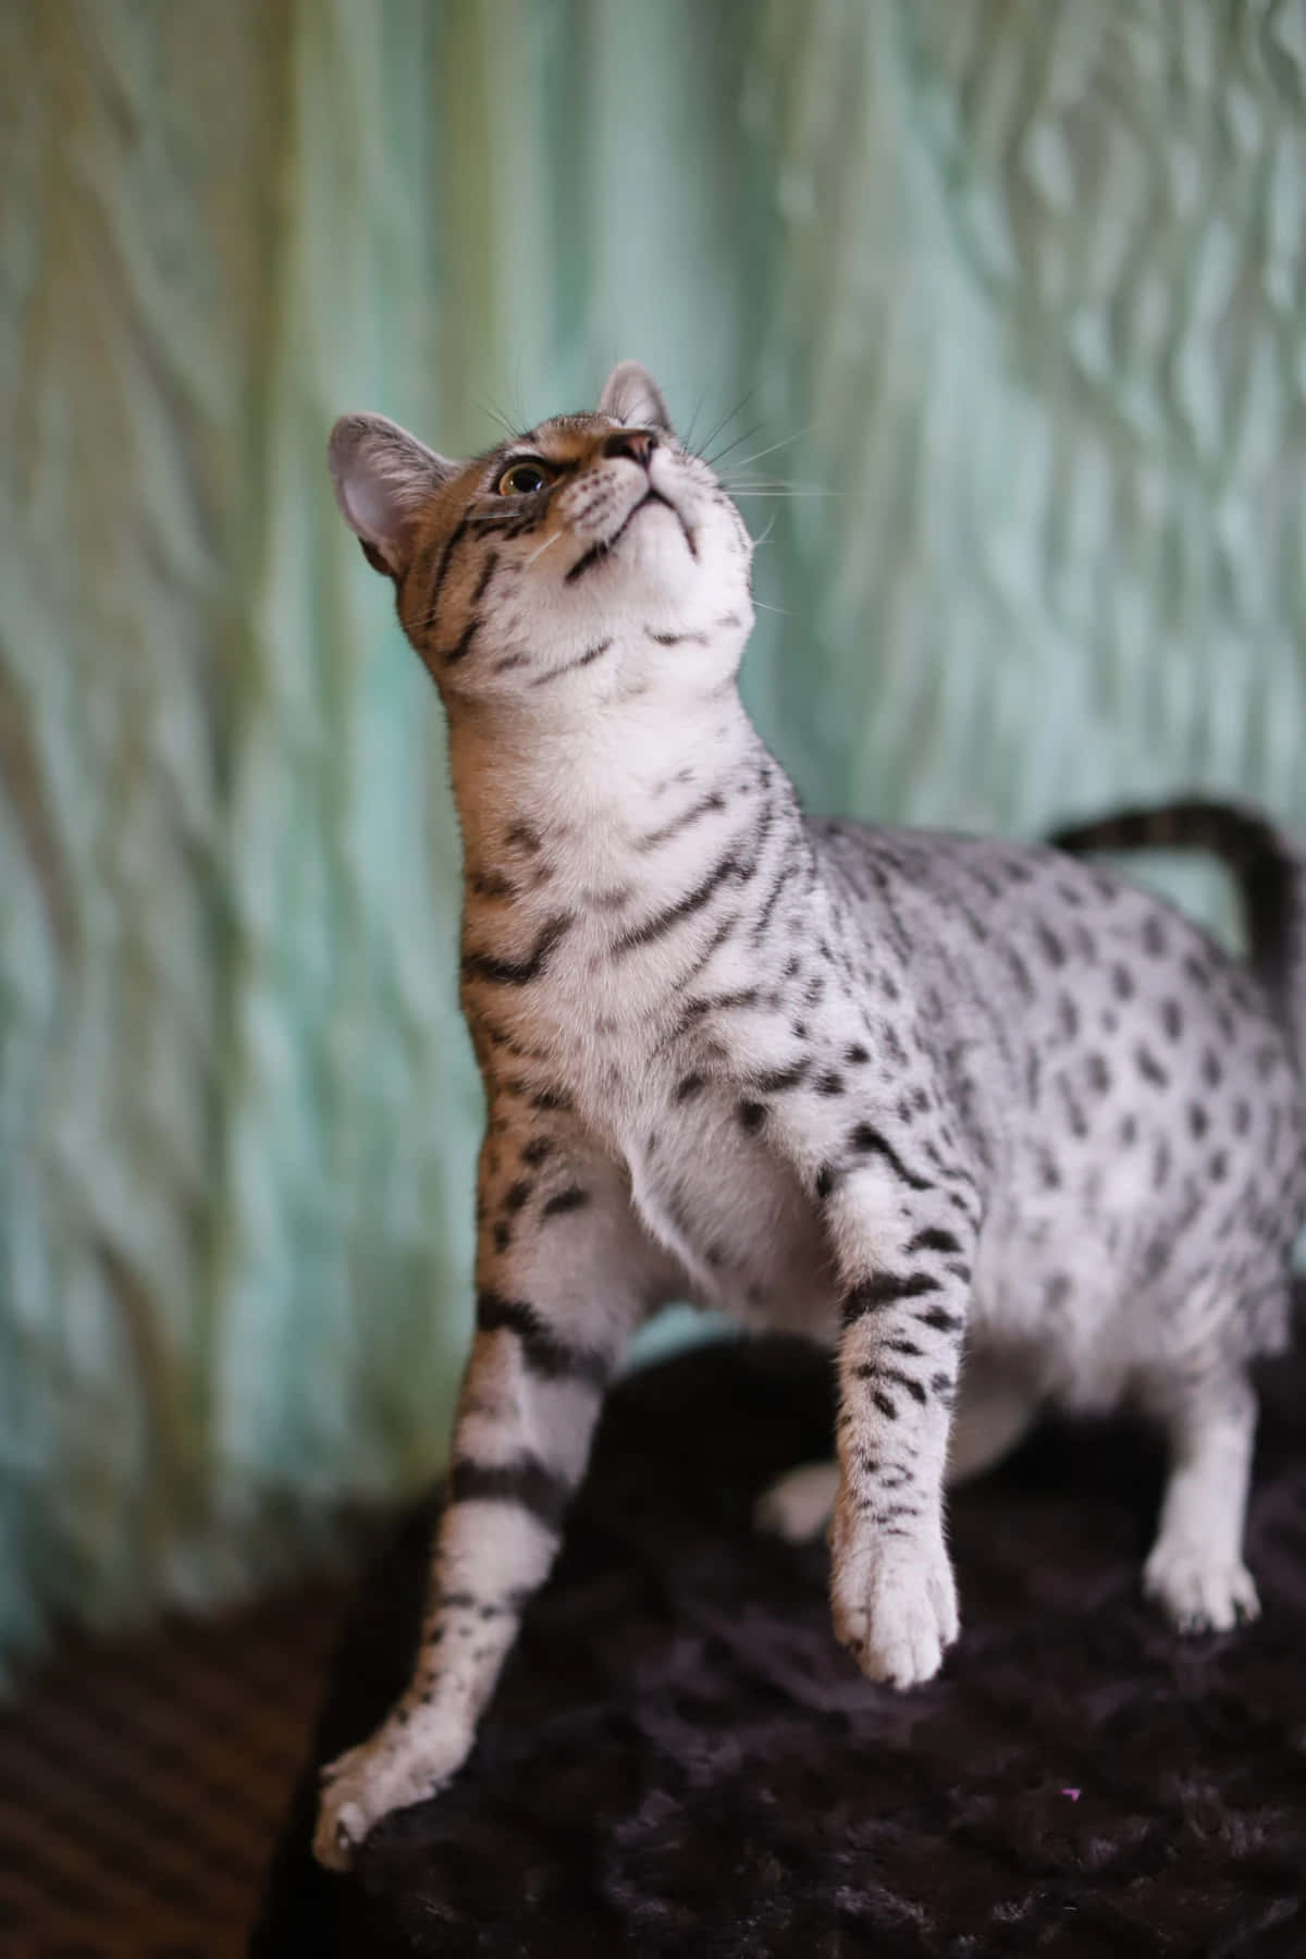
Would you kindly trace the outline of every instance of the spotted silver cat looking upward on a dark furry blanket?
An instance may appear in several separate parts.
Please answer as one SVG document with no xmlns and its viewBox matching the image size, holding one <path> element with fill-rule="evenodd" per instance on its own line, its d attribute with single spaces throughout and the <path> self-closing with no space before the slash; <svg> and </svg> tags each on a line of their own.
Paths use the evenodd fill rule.
<svg viewBox="0 0 1306 1959">
<path fill-rule="evenodd" d="M 1067 852 L 807 819 L 736 692 L 752 541 L 636 362 L 472 462 L 376 415 L 329 460 L 448 717 L 488 1119 L 415 1669 L 323 1771 L 317 1857 L 466 1759 L 603 1389 L 672 1299 L 836 1354 L 838 1469 L 760 1520 L 828 1514 L 871 1681 L 938 1671 L 946 1475 L 1044 1405 L 1155 1416 L 1147 1591 L 1181 1630 L 1255 1616 L 1247 1362 L 1286 1342 L 1306 1211 L 1306 858 L 1189 811 L 1251 874 L 1249 972 Z M 1095 840 L 1147 838 L 1067 838 Z"/>
</svg>

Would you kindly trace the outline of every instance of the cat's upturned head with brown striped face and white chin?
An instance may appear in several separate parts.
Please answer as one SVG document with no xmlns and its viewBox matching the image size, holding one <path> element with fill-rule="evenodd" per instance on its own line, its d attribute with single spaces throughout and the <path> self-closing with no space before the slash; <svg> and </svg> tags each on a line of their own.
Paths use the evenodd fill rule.
<svg viewBox="0 0 1306 1959">
<path fill-rule="evenodd" d="M 382 415 L 331 431 L 331 478 L 454 703 L 589 713 L 709 692 L 752 625 L 752 541 L 634 360 L 593 413 L 450 462 Z"/>
</svg>

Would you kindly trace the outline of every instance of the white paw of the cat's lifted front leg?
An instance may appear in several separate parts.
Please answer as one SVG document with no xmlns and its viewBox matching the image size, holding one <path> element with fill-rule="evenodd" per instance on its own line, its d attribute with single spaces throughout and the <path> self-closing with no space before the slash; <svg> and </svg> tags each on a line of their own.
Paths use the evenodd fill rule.
<svg viewBox="0 0 1306 1959">
<path fill-rule="evenodd" d="M 834 1636 L 869 1681 L 932 1681 L 956 1642 L 957 1587 L 942 1534 L 877 1538 L 871 1528 L 830 1530 Z"/>
</svg>

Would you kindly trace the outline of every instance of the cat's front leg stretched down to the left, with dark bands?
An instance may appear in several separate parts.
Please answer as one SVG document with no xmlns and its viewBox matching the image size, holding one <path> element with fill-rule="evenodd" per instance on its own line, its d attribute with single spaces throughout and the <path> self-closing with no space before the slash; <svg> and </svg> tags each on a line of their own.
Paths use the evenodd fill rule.
<svg viewBox="0 0 1306 1959">
<path fill-rule="evenodd" d="M 482 1150 L 476 1338 L 409 1687 L 323 1771 L 317 1859 L 462 1767 L 558 1550 L 603 1387 L 660 1283 L 623 1179 L 583 1142 L 499 1121 Z"/>
</svg>

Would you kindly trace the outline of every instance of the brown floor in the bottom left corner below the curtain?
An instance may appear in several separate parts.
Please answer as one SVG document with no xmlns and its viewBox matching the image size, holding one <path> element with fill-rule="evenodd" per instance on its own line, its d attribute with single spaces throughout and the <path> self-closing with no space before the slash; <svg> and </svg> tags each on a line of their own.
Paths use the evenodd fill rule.
<svg viewBox="0 0 1306 1959">
<path fill-rule="evenodd" d="M 341 1599 L 69 1646 L 0 1708 L 4 1959 L 245 1951 Z"/>
</svg>

